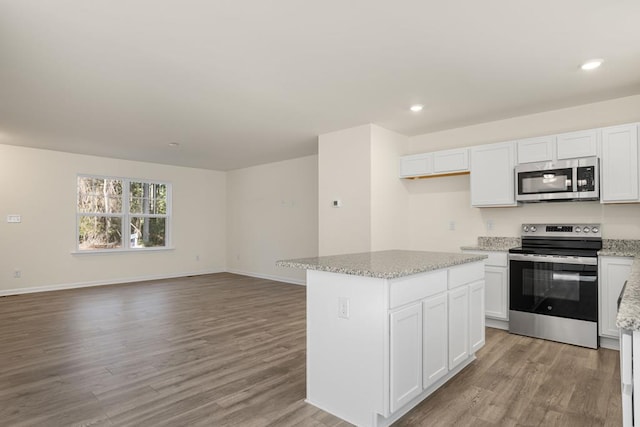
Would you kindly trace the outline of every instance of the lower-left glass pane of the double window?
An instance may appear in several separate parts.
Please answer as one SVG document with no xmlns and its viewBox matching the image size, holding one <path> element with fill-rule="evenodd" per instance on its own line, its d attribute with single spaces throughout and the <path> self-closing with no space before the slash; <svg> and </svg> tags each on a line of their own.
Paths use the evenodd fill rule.
<svg viewBox="0 0 640 427">
<path fill-rule="evenodd" d="M 78 230 L 80 250 L 118 249 L 122 247 L 122 218 L 81 216 Z"/>
</svg>

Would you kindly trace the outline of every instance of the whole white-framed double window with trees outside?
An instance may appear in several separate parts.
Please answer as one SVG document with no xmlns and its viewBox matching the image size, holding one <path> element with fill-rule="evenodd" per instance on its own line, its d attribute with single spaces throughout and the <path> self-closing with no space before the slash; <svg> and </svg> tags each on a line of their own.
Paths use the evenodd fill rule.
<svg viewBox="0 0 640 427">
<path fill-rule="evenodd" d="M 170 211 L 170 184 L 78 176 L 77 249 L 168 247 Z"/>
</svg>

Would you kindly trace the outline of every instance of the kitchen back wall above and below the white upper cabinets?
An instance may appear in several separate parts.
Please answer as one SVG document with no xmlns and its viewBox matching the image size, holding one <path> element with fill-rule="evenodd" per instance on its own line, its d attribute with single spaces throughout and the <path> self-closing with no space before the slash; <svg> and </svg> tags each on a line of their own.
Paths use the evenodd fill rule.
<svg viewBox="0 0 640 427">
<path fill-rule="evenodd" d="M 472 146 L 640 121 L 640 95 L 418 135 L 409 153 Z M 526 204 L 514 208 L 472 208 L 469 177 L 404 181 L 409 192 L 410 249 L 458 251 L 478 236 L 519 236 L 525 222 L 602 223 L 604 238 L 640 239 L 640 204 L 598 202 Z M 450 222 L 455 230 L 450 230 Z M 487 228 L 493 222 L 493 229 Z"/>
</svg>

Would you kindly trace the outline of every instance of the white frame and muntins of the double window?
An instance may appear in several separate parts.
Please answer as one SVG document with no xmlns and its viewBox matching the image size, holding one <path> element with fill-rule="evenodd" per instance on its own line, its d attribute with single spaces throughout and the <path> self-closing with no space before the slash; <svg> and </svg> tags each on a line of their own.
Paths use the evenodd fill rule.
<svg viewBox="0 0 640 427">
<path fill-rule="evenodd" d="M 121 213 L 100 213 L 100 212 L 80 212 L 78 209 L 78 200 L 79 200 L 79 186 L 78 181 L 81 178 L 90 178 L 90 179 L 109 179 L 109 180 L 118 180 L 122 183 L 122 212 Z M 130 209 L 130 198 L 131 198 L 131 183 L 142 183 L 142 184 L 156 184 L 156 185 L 164 185 L 167 189 L 167 197 L 166 197 L 166 214 L 145 214 L 145 213 L 132 213 Z M 118 253 L 118 252 L 153 252 L 153 251 L 165 251 L 172 250 L 172 237 L 171 237 L 171 222 L 172 222 L 172 206 L 173 206 L 173 186 L 171 182 L 157 180 L 157 179 L 148 179 L 148 178 L 126 178 L 119 176 L 110 176 L 110 175 L 95 175 L 95 174 L 77 174 L 76 180 L 76 221 L 75 221 L 75 254 L 104 254 L 104 253 Z M 122 234 L 122 244 L 119 248 L 95 248 L 95 249 L 81 249 L 80 248 L 80 219 L 82 217 L 112 217 L 112 218 L 120 218 L 120 233 Z M 164 236 L 164 246 L 151 246 L 151 247 L 132 247 L 131 246 L 131 218 L 164 218 L 165 219 L 165 236 Z"/>
</svg>

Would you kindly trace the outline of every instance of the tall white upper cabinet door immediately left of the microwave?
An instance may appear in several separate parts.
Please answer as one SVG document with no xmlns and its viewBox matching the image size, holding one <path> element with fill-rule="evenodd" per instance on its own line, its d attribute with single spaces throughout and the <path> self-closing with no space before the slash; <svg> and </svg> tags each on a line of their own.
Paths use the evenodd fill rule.
<svg viewBox="0 0 640 427">
<path fill-rule="evenodd" d="M 471 206 L 515 206 L 513 142 L 471 148 Z"/>
</svg>

